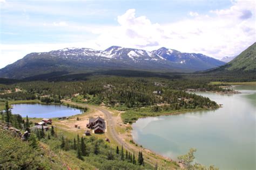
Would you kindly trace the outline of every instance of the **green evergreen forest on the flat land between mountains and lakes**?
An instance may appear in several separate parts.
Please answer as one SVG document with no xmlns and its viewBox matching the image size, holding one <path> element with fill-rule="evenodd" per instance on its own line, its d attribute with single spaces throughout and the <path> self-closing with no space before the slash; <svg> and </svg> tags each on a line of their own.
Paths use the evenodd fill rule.
<svg viewBox="0 0 256 170">
<path fill-rule="evenodd" d="M 63 98 L 109 107 L 140 108 L 156 104 L 179 104 L 177 107 L 215 107 L 208 98 L 188 94 L 186 89 L 221 91 L 207 81 L 168 80 L 160 78 L 93 77 L 87 81 L 32 81 L 1 85 L 2 100 L 34 100 L 59 103 Z M 19 89 L 19 91 L 15 91 Z M 8 91 L 9 93 L 4 93 Z M 157 91 L 157 94 L 153 94 Z M 173 107 L 175 107 L 173 105 Z"/>
</svg>

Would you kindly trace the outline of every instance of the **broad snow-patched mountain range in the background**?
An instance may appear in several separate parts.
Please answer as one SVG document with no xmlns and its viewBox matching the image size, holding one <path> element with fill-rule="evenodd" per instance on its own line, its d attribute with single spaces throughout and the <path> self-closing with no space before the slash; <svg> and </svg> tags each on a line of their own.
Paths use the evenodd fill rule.
<svg viewBox="0 0 256 170">
<path fill-rule="evenodd" d="M 104 69 L 194 72 L 224 64 L 203 54 L 181 53 L 164 47 L 152 52 L 118 46 L 111 46 L 104 51 L 90 48 L 64 48 L 57 51 L 30 53 L 23 59 L 0 69 L 0 77 L 23 79 L 49 73 L 64 75 Z"/>
</svg>

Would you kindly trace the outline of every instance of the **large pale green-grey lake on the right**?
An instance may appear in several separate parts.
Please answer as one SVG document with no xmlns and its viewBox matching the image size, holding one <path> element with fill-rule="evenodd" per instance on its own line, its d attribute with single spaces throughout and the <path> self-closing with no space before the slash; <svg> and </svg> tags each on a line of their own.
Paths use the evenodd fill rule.
<svg viewBox="0 0 256 170">
<path fill-rule="evenodd" d="M 217 110 L 139 119 L 132 125 L 133 140 L 174 160 L 194 147 L 200 164 L 256 169 L 256 86 L 234 89 L 241 94 L 197 93 L 223 104 Z"/>
</svg>

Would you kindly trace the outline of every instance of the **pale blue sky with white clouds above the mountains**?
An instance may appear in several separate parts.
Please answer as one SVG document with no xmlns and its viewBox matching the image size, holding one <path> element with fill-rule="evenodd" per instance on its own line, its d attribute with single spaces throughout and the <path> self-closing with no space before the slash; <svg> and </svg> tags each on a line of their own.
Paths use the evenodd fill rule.
<svg viewBox="0 0 256 170">
<path fill-rule="evenodd" d="M 255 6 L 250 0 L 0 0 L 0 68 L 66 47 L 234 56 L 255 42 Z"/>
</svg>

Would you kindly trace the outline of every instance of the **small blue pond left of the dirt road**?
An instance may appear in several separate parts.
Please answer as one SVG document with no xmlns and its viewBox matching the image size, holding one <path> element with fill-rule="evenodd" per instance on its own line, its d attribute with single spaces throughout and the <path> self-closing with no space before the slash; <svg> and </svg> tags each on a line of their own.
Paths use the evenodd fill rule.
<svg viewBox="0 0 256 170">
<path fill-rule="evenodd" d="M 71 108 L 65 105 L 46 104 L 12 104 L 12 114 L 22 117 L 53 118 L 81 114 L 83 110 Z"/>
</svg>

